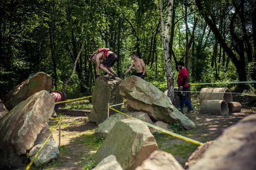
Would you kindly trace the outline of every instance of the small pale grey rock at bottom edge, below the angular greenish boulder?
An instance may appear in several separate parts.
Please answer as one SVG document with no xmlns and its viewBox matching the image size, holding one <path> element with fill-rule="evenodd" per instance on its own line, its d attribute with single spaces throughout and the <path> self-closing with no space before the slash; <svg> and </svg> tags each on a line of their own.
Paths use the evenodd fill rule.
<svg viewBox="0 0 256 170">
<path fill-rule="evenodd" d="M 123 170 L 114 155 L 104 158 L 93 170 Z"/>
</svg>

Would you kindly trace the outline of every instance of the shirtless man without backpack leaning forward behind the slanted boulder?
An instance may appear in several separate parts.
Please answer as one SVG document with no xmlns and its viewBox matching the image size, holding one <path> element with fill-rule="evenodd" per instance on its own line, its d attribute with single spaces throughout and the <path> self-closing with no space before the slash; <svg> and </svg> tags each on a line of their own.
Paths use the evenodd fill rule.
<svg viewBox="0 0 256 170">
<path fill-rule="evenodd" d="M 124 74 L 122 76 L 120 76 L 120 78 L 124 78 L 125 74 L 127 74 L 132 67 L 134 66 L 136 68 L 136 76 L 141 77 L 142 79 L 144 79 L 145 77 L 145 72 L 146 72 L 146 66 L 145 63 L 142 59 L 139 59 L 136 54 L 132 53 L 131 58 L 133 60 L 132 64 L 130 65 L 130 67 L 124 72 Z"/>
</svg>

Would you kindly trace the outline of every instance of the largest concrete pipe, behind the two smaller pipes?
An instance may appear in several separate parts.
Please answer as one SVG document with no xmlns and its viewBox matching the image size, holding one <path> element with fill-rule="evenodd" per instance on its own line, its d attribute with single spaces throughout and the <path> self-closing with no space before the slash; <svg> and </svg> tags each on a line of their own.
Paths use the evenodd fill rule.
<svg viewBox="0 0 256 170">
<path fill-rule="evenodd" d="M 224 87 L 224 88 L 202 88 L 199 97 L 199 102 L 203 100 L 225 100 L 226 102 L 232 102 L 232 94 L 231 91 Z M 217 92 L 217 93 L 214 93 Z"/>
</svg>

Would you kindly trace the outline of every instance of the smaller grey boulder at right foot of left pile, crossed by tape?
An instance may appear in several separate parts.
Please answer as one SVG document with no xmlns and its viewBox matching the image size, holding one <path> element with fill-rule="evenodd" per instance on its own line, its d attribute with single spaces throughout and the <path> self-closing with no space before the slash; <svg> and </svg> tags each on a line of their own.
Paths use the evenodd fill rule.
<svg viewBox="0 0 256 170">
<path fill-rule="evenodd" d="M 34 147 L 30 150 L 30 160 L 32 160 L 39 149 L 42 147 L 45 140 L 51 134 L 48 123 L 44 124 L 43 129 L 38 134 Z M 38 153 L 38 156 L 34 159 L 35 166 L 40 166 L 50 162 L 52 159 L 59 156 L 59 148 L 52 135 L 47 140 L 46 144 L 43 146 L 42 150 Z"/>
</svg>

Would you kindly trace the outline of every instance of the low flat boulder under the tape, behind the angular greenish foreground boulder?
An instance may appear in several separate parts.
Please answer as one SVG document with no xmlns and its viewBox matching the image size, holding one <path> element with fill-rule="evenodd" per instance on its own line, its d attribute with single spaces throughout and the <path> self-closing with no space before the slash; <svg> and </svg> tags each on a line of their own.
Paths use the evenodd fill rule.
<svg viewBox="0 0 256 170">
<path fill-rule="evenodd" d="M 153 124 L 152 120 L 149 118 L 149 115 L 142 111 L 128 112 L 125 114 L 132 116 L 133 118 L 137 118 L 137 119 L 143 120 L 147 123 Z M 127 118 L 128 118 L 127 116 L 122 115 L 120 113 L 111 115 L 104 122 L 102 122 L 98 125 L 98 128 L 95 130 L 95 134 L 96 135 L 101 134 L 104 138 L 106 138 L 107 134 L 111 131 L 112 127 L 114 126 L 114 124 L 117 121 L 122 120 L 122 119 L 127 119 Z"/>
</svg>

